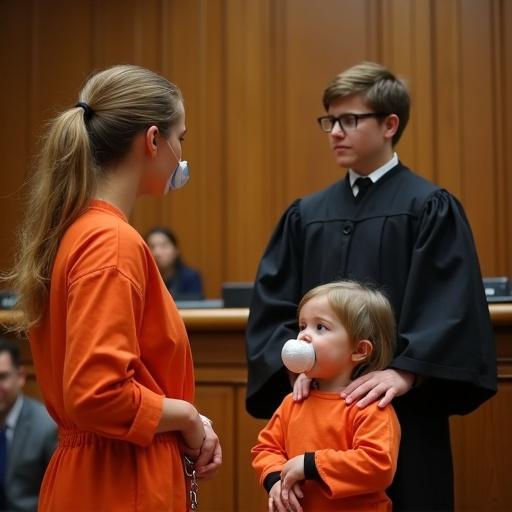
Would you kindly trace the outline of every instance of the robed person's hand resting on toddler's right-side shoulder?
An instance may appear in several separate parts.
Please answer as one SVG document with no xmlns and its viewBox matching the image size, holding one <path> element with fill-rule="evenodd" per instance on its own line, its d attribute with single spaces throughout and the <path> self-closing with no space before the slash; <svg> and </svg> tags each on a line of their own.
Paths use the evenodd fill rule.
<svg viewBox="0 0 512 512">
<path fill-rule="evenodd" d="M 351 382 L 341 393 L 347 405 L 358 400 L 363 409 L 379 400 L 379 407 L 386 407 L 396 396 L 405 395 L 414 383 L 414 373 L 404 370 L 387 370 L 367 373 Z"/>
</svg>

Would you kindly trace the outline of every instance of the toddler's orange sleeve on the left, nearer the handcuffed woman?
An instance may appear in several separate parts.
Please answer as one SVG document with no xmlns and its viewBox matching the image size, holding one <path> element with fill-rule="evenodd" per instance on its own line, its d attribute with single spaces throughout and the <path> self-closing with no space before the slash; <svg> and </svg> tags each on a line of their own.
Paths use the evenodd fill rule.
<svg viewBox="0 0 512 512">
<path fill-rule="evenodd" d="M 256 445 L 251 450 L 252 466 L 258 474 L 260 484 L 263 485 L 270 473 L 283 469 L 288 461 L 284 433 L 286 403 L 288 397 L 278 407 L 270 421 L 258 436 Z"/>
</svg>

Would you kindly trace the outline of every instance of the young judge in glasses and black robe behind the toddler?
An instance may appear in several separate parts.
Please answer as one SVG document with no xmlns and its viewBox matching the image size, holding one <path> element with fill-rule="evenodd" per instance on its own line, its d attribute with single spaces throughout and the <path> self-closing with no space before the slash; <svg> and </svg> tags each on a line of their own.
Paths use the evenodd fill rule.
<svg viewBox="0 0 512 512">
<path fill-rule="evenodd" d="M 496 392 L 496 354 L 478 258 L 461 204 L 399 160 L 409 117 L 405 85 L 362 63 L 338 75 L 319 119 L 341 181 L 295 201 L 261 260 L 247 328 L 246 406 L 269 418 L 296 376 L 281 348 L 298 332 L 302 295 L 333 280 L 381 288 L 397 317 L 390 367 L 356 379 L 342 395 L 355 407 L 393 400 L 402 427 L 389 495 L 397 511 L 453 509 L 448 417 Z M 299 376 L 295 394 L 307 395 Z M 305 391 L 306 390 L 306 391 Z M 305 398 L 307 399 L 307 398 Z"/>
</svg>

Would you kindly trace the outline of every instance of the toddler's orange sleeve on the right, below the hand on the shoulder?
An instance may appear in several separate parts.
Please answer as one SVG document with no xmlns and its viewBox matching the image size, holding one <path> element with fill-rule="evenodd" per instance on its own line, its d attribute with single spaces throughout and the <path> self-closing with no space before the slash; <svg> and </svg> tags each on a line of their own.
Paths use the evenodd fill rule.
<svg viewBox="0 0 512 512">
<path fill-rule="evenodd" d="M 330 499 L 382 491 L 393 480 L 400 424 L 391 406 L 371 404 L 358 412 L 352 448 L 315 451 L 321 487 Z"/>
</svg>

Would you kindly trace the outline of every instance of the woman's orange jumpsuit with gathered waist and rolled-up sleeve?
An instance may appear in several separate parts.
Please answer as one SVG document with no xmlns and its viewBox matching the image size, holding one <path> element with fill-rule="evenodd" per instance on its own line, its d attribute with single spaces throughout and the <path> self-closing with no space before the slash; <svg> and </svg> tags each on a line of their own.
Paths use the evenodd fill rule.
<svg viewBox="0 0 512 512">
<path fill-rule="evenodd" d="M 179 436 L 155 432 L 164 396 L 194 399 L 190 346 L 149 248 L 121 211 L 95 200 L 68 228 L 46 314 L 29 337 L 59 425 L 39 510 L 184 511 Z"/>
</svg>

